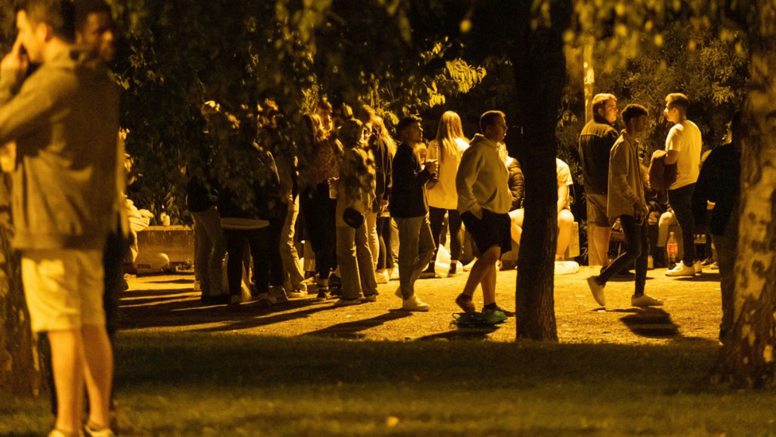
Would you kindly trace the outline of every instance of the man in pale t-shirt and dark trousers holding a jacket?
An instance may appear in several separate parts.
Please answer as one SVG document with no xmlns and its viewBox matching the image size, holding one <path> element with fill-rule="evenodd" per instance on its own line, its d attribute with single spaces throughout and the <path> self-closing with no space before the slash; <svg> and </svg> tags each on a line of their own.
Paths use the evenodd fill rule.
<svg viewBox="0 0 776 437">
<path fill-rule="evenodd" d="M 667 276 L 693 276 L 700 271 L 700 262 L 695 264 L 694 227 L 692 214 L 692 194 L 695 181 L 701 171 L 702 138 L 698 126 L 687 119 L 690 101 L 681 93 L 666 96 L 666 119 L 674 124 L 666 138 L 666 164 L 677 165 L 677 179 L 668 188 L 668 203 L 674 209 L 682 232 L 684 256 L 679 264 L 666 272 Z"/>
</svg>

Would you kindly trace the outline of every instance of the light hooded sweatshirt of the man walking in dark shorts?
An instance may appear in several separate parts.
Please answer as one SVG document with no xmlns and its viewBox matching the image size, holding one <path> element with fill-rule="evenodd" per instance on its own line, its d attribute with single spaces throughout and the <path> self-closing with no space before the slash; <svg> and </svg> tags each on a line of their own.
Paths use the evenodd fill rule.
<svg viewBox="0 0 776 437">
<path fill-rule="evenodd" d="M 456 175 L 458 211 L 482 217 L 482 210 L 506 214 L 512 206 L 509 172 L 498 145 L 477 134 L 463 152 Z"/>
</svg>

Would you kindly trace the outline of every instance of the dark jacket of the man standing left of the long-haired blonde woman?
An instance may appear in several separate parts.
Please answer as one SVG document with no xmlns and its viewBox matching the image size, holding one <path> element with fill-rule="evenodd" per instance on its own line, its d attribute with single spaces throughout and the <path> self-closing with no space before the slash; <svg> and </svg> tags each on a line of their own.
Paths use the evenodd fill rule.
<svg viewBox="0 0 776 437">
<path fill-rule="evenodd" d="M 397 218 L 422 217 L 428 213 L 425 184 L 431 179 L 428 170 L 421 170 L 410 145 L 401 143 L 393 156 L 390 215 Z"/>
</svg>

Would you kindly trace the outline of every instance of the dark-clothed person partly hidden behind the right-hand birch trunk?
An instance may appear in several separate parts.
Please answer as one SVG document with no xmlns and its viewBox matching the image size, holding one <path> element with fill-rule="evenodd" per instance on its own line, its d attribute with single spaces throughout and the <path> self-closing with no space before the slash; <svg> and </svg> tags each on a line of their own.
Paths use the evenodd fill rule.
<svg viewBox="0 0 776 437">
<path fill-rule="evenodd" d="M 738 244 L 742 112 L 733 115 L 730 131 L 733 141 L 720 145 L 708 155 L 693 193 L 693 203 L 707 205 L 706 208 L 712 211 L 708 227 L 719 257 L 719 288 L 722 291 L 719 340 L 723 343 L 733 327 L 733 291 L 736 285 L 733 265 L 736 263 Z"/>
</svg>

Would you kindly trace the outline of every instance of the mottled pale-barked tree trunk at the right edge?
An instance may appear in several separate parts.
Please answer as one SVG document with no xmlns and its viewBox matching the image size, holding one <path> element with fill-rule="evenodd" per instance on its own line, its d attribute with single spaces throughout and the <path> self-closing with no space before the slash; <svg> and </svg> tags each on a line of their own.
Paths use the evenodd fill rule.
<svg viewBox="0 0 776 437">
<path fill-rule="evenodd" d="M 773 386 L 776 363 L 776 5 L 760 1 L 750 23 L 749 135 L 741 158 L 733 335 L 717 366 L 734 386 Z"/>
</svg>

